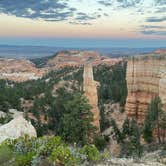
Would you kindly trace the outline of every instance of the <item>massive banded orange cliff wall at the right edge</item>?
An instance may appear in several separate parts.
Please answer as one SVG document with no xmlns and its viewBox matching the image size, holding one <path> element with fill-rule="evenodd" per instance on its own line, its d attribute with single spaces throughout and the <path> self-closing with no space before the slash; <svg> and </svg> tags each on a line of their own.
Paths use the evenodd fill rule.
<svg viewBox="0 0 166 166">
<path fill-rule="evenodd" d="M 143 124 L 148 104 L 160 96 L 166 107 L 166 54 L 132 57 L 127 64 L 126 112 Z"/>
</svg>

